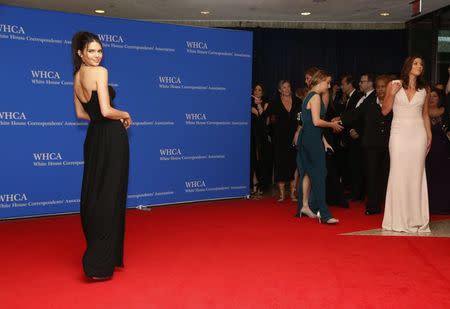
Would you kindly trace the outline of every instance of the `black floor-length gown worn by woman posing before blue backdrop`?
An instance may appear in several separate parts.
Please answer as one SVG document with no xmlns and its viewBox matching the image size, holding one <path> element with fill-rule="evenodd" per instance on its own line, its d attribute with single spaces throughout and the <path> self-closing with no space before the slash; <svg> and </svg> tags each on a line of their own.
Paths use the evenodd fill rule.
<svg viewBox="0 0 450 309">
<path fill-rule="evenodd" d="M 115 92 L 108 88 L 112 101 Z M 102 116 L 96 91 L 82 105 L 91 118 L 84 142 L 80 203 L 87 243 L 83 268 L 88 277 L 108 277 L 114 267 L 123 267 L 128 135 L 120 120 Z"/>
</svg>

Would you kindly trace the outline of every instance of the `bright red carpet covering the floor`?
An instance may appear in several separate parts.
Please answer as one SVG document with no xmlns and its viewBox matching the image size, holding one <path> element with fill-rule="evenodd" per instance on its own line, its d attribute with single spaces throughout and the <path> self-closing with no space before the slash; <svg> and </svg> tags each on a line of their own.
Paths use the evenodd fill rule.
<svg viewBox="0 0 450 309">
<path fill-rule="evenodd" d="M 332 212 L 337 226 L 272 199 L 131 210 L 125 269 L 101 283 L 78 215 L 2 222 L 0 308 L 450 307 L 450 238 L 342 236 L 382 217 Z"/>
</svg>

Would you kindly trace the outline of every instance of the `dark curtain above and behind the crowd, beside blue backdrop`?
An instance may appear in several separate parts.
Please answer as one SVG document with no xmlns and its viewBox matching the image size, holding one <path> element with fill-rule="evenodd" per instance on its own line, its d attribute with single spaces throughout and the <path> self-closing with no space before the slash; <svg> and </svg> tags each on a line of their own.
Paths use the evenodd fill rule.
<svg viewBox="0 0 450 309">
<path fill-rule="evenodd" d="M 357 80 L 367 71 L 398 73 L 408 50 L 406 30 L 242 30 L 253 32 L 253 83 L 263 83 L 269 97 L 281 79 L 291 81 L 293 91 L 303 87 L 311 66 L 327 70 L 339 83 L 345 73 Z"/>
</svg>

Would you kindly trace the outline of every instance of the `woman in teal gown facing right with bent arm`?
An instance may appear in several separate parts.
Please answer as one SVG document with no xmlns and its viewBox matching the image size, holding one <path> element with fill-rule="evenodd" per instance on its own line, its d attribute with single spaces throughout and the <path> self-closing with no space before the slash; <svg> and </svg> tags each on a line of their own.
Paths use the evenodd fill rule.
<svg viewBox="0 0 450 309">
<path fill-rule="evenodd" d="M 336 224 L 325 201 L 325 179 L 327 176 L 325 147 L 322 128 L 332 128 L 339 132 L 343 127 L 338 121 L 325 121 L 325 105 L 320 95 L 328 91 L 331 76 L 322 70 L 317 71 L 311 80 L 311 90 L 302 104 L 303 127 L 298 137 L 297 165 L 300 172 L 300 183 L 308 175 L 311 179 L 310 208 L 317 213 L 320 222 Z M 303 199 L 303 192 L 299 190 L 298 200 Z M 299 203 L 300 205 L 300 203 Z M 299 206 L 298 214 L 308 214 L 309 209 Z"/>
</svg>

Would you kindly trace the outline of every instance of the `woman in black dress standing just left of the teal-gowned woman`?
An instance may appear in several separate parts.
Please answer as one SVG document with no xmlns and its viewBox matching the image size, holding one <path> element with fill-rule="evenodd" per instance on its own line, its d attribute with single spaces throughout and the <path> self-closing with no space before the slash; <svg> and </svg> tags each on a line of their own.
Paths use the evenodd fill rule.
<svg viewBox="0 0 450 309">
<path fill-rule="evenodd" d="M 298 114 L 301 101 L 292 95 L 291 84 L 287 80 L 278 83 L 279 95 L 269 104 L 268 114 L 273 125 L 273 146 L 275 181 L 280 190 L 279 202 L 285 199 L 285 184 L 290 183 L 291 200 L 297 201 L 297 163 L 295 132 L 298 128 Z"/>
</svg>

